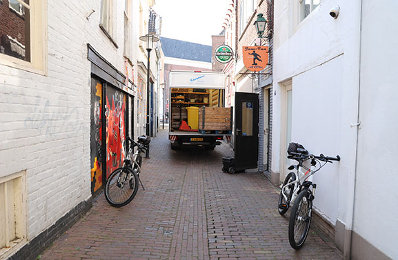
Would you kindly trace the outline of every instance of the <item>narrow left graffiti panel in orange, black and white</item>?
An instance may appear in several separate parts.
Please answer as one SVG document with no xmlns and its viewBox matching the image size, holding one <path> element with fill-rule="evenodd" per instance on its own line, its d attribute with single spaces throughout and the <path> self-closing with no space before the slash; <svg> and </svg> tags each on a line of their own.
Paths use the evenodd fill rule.
<svg viewBox="0 0 398 260">
<path fill-rule="evenodd" d="M 90 112 L 91 192 L 102 186 L 102 84 L 92 79 Z"/>
</svg>

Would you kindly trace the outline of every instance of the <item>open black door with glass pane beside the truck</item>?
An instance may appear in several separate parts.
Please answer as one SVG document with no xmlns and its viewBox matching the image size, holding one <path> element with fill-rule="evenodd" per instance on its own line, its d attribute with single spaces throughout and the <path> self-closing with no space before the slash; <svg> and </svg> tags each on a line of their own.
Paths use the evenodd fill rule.
<svg viewBox="0 0 398 260">
<path fill-rule="evenodd" d="M 235 93 L 235 169 L 257 168 L 259 94 Z"/>
</svg>

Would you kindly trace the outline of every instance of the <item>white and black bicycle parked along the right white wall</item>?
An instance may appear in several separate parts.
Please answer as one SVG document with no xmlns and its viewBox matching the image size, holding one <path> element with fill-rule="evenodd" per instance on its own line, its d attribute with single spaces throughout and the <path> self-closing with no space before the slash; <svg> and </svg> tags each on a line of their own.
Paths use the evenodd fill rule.
<svg viewBox="0 0 398 260">
<path fill-rule="evenodd" d="M 288 168 L 288 170 L 295 169 L 296 171 L 290 172 L 283 181 L 278 210 L 279 214 L 283 215 L 288 211 L 290 203 L 294 203 L 290 212 L 289 242 L 292 248 L 299 249 L 304 245 L 311 225 L 312 201 L 315 199 L 317 188 L 317 184 L 312 183 L 312 175 L 321 170 L 326 163 L 340 161 L 340 157 L 339 155 L 326 157 L 324 154 L 319 156 L 308 154 L 308 151 L 299 143 L 290 143 L 288 154 L 288 159 L 296 160 L 298 163 Z M 304 165 L 305 161 L 310 161 L 309 167 Z"/>
</svg>

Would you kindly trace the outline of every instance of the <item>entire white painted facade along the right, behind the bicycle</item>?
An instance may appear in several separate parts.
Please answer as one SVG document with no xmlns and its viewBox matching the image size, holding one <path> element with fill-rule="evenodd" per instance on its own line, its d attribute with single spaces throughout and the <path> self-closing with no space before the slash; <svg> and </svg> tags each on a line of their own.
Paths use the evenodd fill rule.
<svg viewBox="0 0 398 260">
<path fill-rule="evenodd" d="M 337 5 L 333 19 L 329 11 Z M 314 154 L 341 156 L 315 174 L 315 209 L 392 259 L 398 258 L 398 210 L 391 206 L 398 180 L 392 173 L 398 155 L 397 8 L 391 1 L 324 0 L 300 21 L 299 1 L 275 1 L 271 164 L 283 181 L 291 87 L 291 141 Z M 349 254 L 348 232 L 337 228 L 336 237 Z"/>
</svg>

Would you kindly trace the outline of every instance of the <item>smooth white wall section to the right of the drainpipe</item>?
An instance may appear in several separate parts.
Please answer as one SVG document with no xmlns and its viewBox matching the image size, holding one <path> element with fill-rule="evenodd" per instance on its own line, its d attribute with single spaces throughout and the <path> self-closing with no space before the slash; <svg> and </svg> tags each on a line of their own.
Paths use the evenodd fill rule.
<svg viewBox="0 0 398 260">
<path fill-rule="evenodd" d="M 353 229 L 398 259 L 398 20 L 396 1 L 362 1 L 357 174 Z M 379 39 L 375 41 L 375 39 Z"/>
</svg>

